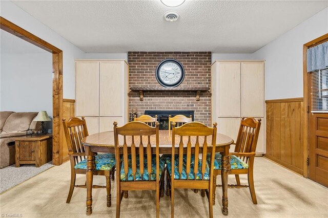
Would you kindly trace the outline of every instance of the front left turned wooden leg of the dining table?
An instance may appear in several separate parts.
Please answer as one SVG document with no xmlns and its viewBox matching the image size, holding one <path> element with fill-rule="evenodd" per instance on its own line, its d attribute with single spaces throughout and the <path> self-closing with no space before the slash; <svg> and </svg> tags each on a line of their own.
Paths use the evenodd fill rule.
<svg viewBox="0 0 328 218">
<path fill-rule="evenodd" d="M 92 213 L 92 182 L 93 182 L 94 156 L 87 156 L 87 215 Z"/>
</svg>

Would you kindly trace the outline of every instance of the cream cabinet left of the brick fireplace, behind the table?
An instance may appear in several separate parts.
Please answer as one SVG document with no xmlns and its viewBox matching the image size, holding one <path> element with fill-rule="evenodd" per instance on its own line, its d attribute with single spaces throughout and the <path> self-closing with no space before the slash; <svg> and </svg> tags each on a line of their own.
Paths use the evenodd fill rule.
<svg viewBox="0 0 328 218">
<path fill-rule="evenodd" d="M 76 116 L 86 118 L 89 134 L 128 122 L 128 74 L 125 60 L 76 60 Z"/>
</svg>

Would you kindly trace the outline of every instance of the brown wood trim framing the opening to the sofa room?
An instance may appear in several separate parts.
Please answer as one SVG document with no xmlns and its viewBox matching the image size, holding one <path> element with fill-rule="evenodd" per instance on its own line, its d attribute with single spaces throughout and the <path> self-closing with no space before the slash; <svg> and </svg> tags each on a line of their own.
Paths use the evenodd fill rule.
<svg viewBox="0 0 328 218">
<path fill-rule="evenodd" d="M 52 66 L 54 74 L 52 80 L 52 163 L 54 165 L 60 165 L 63 163 L 63 157 L 61 157 L 62 145 L 59 143 L 60 139 L 63 137 L 63 135 L 60 134 L 59 128 L 59 121 L 63 118 L 63 51 L 1 16 L 0 28 L 52 53 Z"/>
</svg>

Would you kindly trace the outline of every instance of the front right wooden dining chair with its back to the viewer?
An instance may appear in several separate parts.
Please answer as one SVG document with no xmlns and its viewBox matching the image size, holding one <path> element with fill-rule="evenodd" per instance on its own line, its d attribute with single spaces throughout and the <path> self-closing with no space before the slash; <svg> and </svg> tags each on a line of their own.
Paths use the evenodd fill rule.
<svg viewBox="0 0 328 218">
<path fill-rule="evenodd" d="M 174 217 L 174 189 L 176 188 L 207 190 L 210 217 L 213 217 L 214 177 L 212 175 L 216 125 L 214 123 L 211 128 L 199 122 L 189 122 L 175 127 L 175 122 L 172 123 L 172 156 L 171 159 L 166 159 L 167 177 L 171 189 L 171 217 Z M 175 154 L 176 145 L 178 145 L 177 154 Z M 210 163 L 206 158 L 208 155 L 211 157 Z"/>
</svg>

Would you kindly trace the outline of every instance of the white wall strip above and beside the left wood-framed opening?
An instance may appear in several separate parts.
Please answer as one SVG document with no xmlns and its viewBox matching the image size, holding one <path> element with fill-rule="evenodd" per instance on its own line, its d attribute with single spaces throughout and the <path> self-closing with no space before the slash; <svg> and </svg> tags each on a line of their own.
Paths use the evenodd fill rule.
<svg viewBox="0 0 328 218">
<path fill-rule="evenodd" d="M 1 1 L 1 16 L 63 51 L 63 96 L 75 99 L 74 59 L 85 53 L 10 1 Z"/>
</svg>

